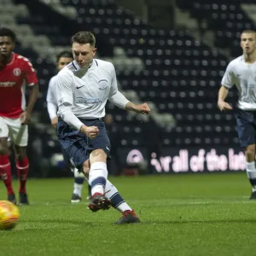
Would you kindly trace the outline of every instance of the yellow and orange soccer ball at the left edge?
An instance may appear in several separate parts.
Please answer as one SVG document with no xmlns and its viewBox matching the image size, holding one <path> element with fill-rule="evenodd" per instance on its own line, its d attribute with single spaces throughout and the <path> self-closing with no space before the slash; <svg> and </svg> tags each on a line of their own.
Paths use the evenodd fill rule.
<svg viewBox="0 0 256 256">
<path fill-rule="evenodd" d="M 15 228 L 20 218 L 19 208 L 10 201 L 0 201 L 0 230 Z"/>
</svg>

